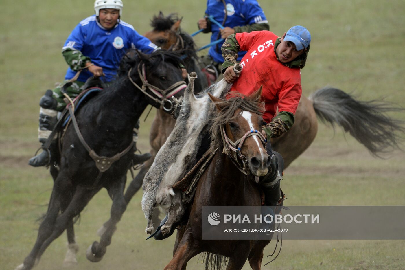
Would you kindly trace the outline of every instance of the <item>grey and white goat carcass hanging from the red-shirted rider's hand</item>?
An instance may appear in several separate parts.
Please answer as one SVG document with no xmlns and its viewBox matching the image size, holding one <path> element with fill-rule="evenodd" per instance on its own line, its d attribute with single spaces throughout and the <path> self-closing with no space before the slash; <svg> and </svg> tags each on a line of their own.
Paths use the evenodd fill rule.
<svg viewBox="0 0 405 270">
<path fill-rule="evenodd" d="M 180 191 L 172 186 L 196 164 L 198 148 L 209 130 L 214 106 L 207 93 L 224 97 L 231 86 L 222 79 L 194 96 L 195 78 L 196 73 L 191 73 L 175 128 L 156 154 L 143 180 L 142 209 L 148 221 L 147 234 L 153 231 L 152 214 L 156 206 L 161 206 L 168 214 L 166 224 L 161 228 L 162 234 L 166 234 L 183 215 Z"/>
</svg>

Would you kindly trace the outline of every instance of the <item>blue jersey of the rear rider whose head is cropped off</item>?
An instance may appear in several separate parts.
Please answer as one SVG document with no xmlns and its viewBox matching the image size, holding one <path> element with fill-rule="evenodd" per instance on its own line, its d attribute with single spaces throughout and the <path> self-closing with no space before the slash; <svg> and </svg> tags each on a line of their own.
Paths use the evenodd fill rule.
<svg viewBox="0 0 405 270">
<path fill-rule="evenodd" d="M 268 21 L 262 8 L 256 0 L 225 0 L 227 17 L 224 26 L 233 28 L 235 26 L 245 26 L 248 24 L 267 24 Z M 207 0 L 206 14 L 214 17 L 215 21 L 222 24 L 225 17 L 224 3 L 221 0 Z M 211 42 L 221 39 L 218 36 L 220 28 L 216 24 L 211 23 Z M 222 44 L 212 46 L 208 54 L 214 58 L 216 62 L 224 62 L 221 51 Z M 246 54 L 246 51 L 239 51 L 238 61 Z"/>
</svg>

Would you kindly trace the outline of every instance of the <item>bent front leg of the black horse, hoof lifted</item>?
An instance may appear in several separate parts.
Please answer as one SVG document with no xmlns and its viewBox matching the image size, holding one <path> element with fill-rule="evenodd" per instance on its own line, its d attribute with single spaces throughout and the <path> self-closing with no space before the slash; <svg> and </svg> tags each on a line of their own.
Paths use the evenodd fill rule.
<svg viewBox="0 0 405 270">
<path fill-rule="evenodd" d="M 89 246 L 86 252 L 86 257 L 92 262 L 101 261 L 102 257 L 107 251 L 107 246 L 111 244 L 111 238 L 117 229 L 115 226 L 122 217 L 126 210 L 126 201 L 124 199 L 126 176 L 122 176 L 118 181 L 114 182 L 110 186 L 107 186 L 107 191 L 110 197 L 113 199 L 111 206 L 111 217 L 105 227 L 105 231 L 101 235 L 100 243 L 95 241 Z"/>
</svg>

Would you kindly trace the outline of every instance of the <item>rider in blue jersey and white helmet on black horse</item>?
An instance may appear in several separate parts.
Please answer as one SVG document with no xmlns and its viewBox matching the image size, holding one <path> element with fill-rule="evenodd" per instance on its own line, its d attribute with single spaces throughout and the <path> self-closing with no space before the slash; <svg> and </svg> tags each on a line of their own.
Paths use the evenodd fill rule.
<svg viewBox="0 0 405 270">
<path fill-rule="evenodd" d="M 100 77 L 104 82 L 113 80 L 127 49 L 136 48 L 146 54 L 158 49 L 149 39 L 138 34 L 133 26 L 120 19 L 122 8 L 121 0 L 96 0 L 96 14 L 81 21 L 66 40 L 62 49 L 69 65 L 65 82 L 81 70 L 78 79 L 66 88 L 69 97 L 77 96 L 91 76 Z M 47 90 L 40 99 L 38 138 L 43 145 L 56 123 L 58 111 L 66 106 L 63 98 L 61 86 L 58 86 Z M 55 148 L 56 143 L 53 142 L 49 147 L 51 154 Z M 31 158 L 28 164 L 38 167 L 48 165 L 49 161 L 48 151 L 43 151 Z"/>
</svg>

